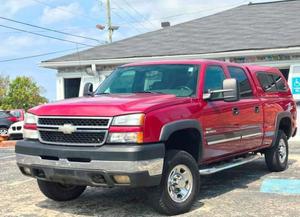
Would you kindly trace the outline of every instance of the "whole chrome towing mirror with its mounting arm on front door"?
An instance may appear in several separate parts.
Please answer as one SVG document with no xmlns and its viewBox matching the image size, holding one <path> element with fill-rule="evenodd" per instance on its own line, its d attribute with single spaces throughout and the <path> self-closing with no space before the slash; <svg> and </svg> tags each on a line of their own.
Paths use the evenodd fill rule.
<svg viewBox="0 0 300 217">
<path fill-rule="evenodd" d="M 203 95 L 205 100 L 220 100 L 225 102 L 235 102 L 240 100 L 239 83 L 234 78 L 228 78 L 223 81 L 222 90 L 212 90 Z"/>
</svg>

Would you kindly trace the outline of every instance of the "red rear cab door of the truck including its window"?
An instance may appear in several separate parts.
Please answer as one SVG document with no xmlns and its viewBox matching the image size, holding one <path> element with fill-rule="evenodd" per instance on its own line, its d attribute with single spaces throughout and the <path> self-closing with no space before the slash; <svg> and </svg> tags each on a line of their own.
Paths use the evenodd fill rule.
<svg viewBox="0 0 300 217">
<path fill-rule="evenodd" d="M 263 140 L 263 108 L 262 101 L 254 94 L 253 81 L 249 72 L 242 67 L 228 66 L 231 78 L 235 78 L 240 86 L 240 100 L 235 102 L 238 128 L 241 135 L 243 151 L 262 145 Z"/>
</svg>

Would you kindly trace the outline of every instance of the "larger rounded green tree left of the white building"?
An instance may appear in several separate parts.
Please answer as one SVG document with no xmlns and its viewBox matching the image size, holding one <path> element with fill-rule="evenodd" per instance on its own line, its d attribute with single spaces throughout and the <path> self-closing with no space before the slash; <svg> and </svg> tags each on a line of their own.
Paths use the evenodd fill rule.
<svg viewBox="0 0 300 217">
<path fill-rule="evenodd" d="M 2 109 L 25 109 L 46 103 L 41 96 L 42 89 L 32 78 L 19 76 L 9 84 L 7 95 L 4 97 Z"/>
</svg>

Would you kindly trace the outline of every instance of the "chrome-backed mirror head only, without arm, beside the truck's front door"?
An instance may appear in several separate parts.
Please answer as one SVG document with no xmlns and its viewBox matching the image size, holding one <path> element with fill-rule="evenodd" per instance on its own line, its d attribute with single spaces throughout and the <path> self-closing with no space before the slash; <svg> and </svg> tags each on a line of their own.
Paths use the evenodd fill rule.
<svg viewBox="0 0 300 217">
<path fill-rule="evenodd" d="M 240 100 L 239 83 L 234 78 L 225 79 L 223 81 L 223 93 L 225 102 L 236 102 Z"/>
</svg>

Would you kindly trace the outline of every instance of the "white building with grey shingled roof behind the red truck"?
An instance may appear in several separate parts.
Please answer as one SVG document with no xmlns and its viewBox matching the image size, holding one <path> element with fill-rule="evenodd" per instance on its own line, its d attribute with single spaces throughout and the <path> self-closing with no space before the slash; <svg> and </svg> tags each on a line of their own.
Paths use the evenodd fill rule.
<svg viewBox="0 0 300 217">
<path fill-rule="evenodd" d="M 86 82 L 98 86 L 125 63 L 199 58 L 278 67 L 300 101 L 300 1 L 242 5 L 41 66 L 57 70 L 57 99 L 64 99 L 81 96 Z"/>
</svg>

